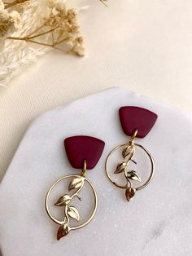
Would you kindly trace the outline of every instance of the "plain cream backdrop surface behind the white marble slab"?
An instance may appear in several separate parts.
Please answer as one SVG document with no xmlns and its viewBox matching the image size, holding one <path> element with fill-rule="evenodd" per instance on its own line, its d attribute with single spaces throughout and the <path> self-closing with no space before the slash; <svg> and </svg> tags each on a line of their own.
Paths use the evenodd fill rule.
<svg viewBox="0 0 192 256">
<path fill-rule="evenodd" d="M 85 57 L 51 51 L 0 88 L 1 177 L 34 117 L 98 90 L 123 86 L 192 113 L 191 0 L 81 3 Z"/>
</svg>

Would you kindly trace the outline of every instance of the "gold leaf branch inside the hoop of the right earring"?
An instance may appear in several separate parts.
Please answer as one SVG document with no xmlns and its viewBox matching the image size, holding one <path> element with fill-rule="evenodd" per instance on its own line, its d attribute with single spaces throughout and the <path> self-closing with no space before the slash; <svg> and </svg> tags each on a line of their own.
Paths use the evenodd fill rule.
<svg viewBox="0 0 192 256">
<path fill-rule="evenodd" d="M 137 182 L 141 182 L 141 178 L 139 174 L 135 170 L 129 170 L 128 166 L 130 161 L 133 161 L 132 157 L 134 156 L 135 148 L 133 143 L 129 143 L 128 146 L 124 148 L 122 151 L 122 156 L 124 158 L 124 161 L 120 162 L 116 166 L 115 174 L 124 173 L 124 177 L 127 179 L 127 186 L 125 190 L 125 196 L 127 198 L 127 201 L 130 201 L 130 199 L 134 196 L 136 189 L 133 188 L 132 180 L 135 180 Z M 136 161 L 133 161 L 134 164 L 137 164 Z"/>
</svg>

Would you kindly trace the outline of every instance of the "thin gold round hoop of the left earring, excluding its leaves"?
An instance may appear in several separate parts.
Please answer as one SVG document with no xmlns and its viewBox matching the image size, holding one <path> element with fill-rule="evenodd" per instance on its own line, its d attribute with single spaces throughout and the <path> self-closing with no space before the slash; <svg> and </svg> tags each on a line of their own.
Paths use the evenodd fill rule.
<svg viewBox="0 0 192 256">
<path fill-rule="evenodd" d="M 92 213 L 90 214 L 90 217 L 88 218 L 87 221 L 85 221 L 85 223 L 82 223 L 81 225 L 77 225 L 74 227 L 69 227 L 70 230 L 76 230 L 78 228 L 81 227 L 85 227 L 85 225 L 87 225 L 93 218 L 94 218 L 94 214 L 97 210 L 98 207 L 98 196 L 97 193 L 94 189 L 93 184 L 86 179 L 85 177 L 82 177 L 81 175 L 67 175 L 67 176 L 63 176 L 61 179 L 58 179 L 57 181 L 55 181 L 55 183 L 53 183 L 53 185 L 50 187 L 50 189 L 48 190 L 48 192 L 46 193 L 46 200 L 45 200 L 45 206 L 46 206 L 46 213 L 49 215 L 49 217 L 57 224 L 59 225 L 63 225 L 65 223 L 64 220 L 59 220 L 57 218 L 55 218 L 51 213 L 50 213 L 50 209 L 49 209 L 49 196 L 50 196 L 50 192 L 52 191 L 53 188 L 55 188 L 55 185 L 57 183 L 59 183 L 60 181 L 62 181 L 63 179 L 69 179 L 69 178 L 79 178 L 79 179 L 84 179 L 85 182 L 87 182 L 90 186 L 90 188 L 92 189 L 93 193 L 94 193 L 94 210 L 92 211 Z"/>
</svg>

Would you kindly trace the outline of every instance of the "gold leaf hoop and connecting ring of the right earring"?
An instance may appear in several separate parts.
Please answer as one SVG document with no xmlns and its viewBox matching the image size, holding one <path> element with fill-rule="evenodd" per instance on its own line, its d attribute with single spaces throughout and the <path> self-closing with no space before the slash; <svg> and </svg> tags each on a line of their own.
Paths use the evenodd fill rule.
<svg viewBox="0 0 192 256">
<path fill-rule="evenodd" d="M 151 156 L 151 153 L 146 148 L 144 148 L 142 145 L 140 145 L 138 143 L 134 143 L 134 139 L 135 139 L 136 135 L 137 135 L 137 130 L 134 131 L 133 136 L 129 140 L 129 143 L 121 144 L 121 145 L 117 146 L 116 148 L 112 149 L 111 152 L 108 154 L 107 160 L 106 160 L 106 163 L 105 163 L 105 170 L 106 170 L 108 179 L 116 187 L 123 188 L 123 189 L 126 190 L 125 196 L 127 197 L 127 199 L 128 198 L 130 199 L 131 197 L 133 197 L 134 192 L 136 192 L 138 190 L 141 190 L 142 188 L 145 188 L 151 182 L 151 179 L 153 178 L 154 170 L 155 170 L 155 164 L 154 164 L 153 157 Z M 133 161 L 132 157 L 134 156 L 136 147 L 142 148 L 142 150 L 146 153 L 147 157 L 149 157 L 149 159 L 151 161 L 151 174 L 149 175 L 149 177 L 148 177 L 148 179 L 146 180 L 145 183 L 143 183 L 141 186 L 138 186 L 137 188 L 133 188 L 133 184 L 132 184 L 131 180 L 137 180 L 137 182 L 141 182 L 141 178 L 135 170 L 128 170 L 129 163 L 131 161 Z M 126 179 L 126 183 L 124 185 L 116 183 L 115 181 L 113 181 L 113 179 L 111 179 L 111 176 L 110 176 L 109 170 L 108 170 L 108 163 L 109 163 L 109 160 L 111 158 L 111 155 L 120 148 L 123 148 L 122 155 L 123 155 L 125 160 L 123 162 L 120 162 L 117 165 L 116 170 L 115 170 L 114 173 L 119 174 L 121 172 L 124 172 L 124 177 Z M 126 150 L 127 150 L 127 152 L 126 152 Z M 133 161 L 133 162 L 136 164 L 135 161 Z M 130 188 L 133 188 L 133 190 L 130 190 Z"/>
</svg>

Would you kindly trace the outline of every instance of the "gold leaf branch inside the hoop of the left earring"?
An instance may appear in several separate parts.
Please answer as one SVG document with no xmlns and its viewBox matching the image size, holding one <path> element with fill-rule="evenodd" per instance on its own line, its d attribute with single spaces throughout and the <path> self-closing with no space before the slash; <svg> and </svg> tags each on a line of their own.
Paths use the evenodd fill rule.
<svg viewBox="0 0 192 256">
<path fill-rule="evenodd" d="M 81 201 L 81 197 L 79 196 L 79 192 L 84 186 L 84 177 L 77 177 L 72 179 L 72 182 L 68 185 L 68 191 L 75 190 L 72 196 L 65 194 L 59 197 L 59 200 L 55 203 L 55 206 L 63 206 L 64 213 L 63 213 L 63 224 L 60 225 L 59 230 L 57 232 L 57 240 L 62 238 L 63 236 L 67 236 L 68 232 L 70 232 L 70 227 L 68 225 L 69 219 L 74 218 L 76 221 L 80 220 L 80 214 L 75 206 L 69 205 L 72 201 L 73 197 L 77 197 Z"/>
</svg>

